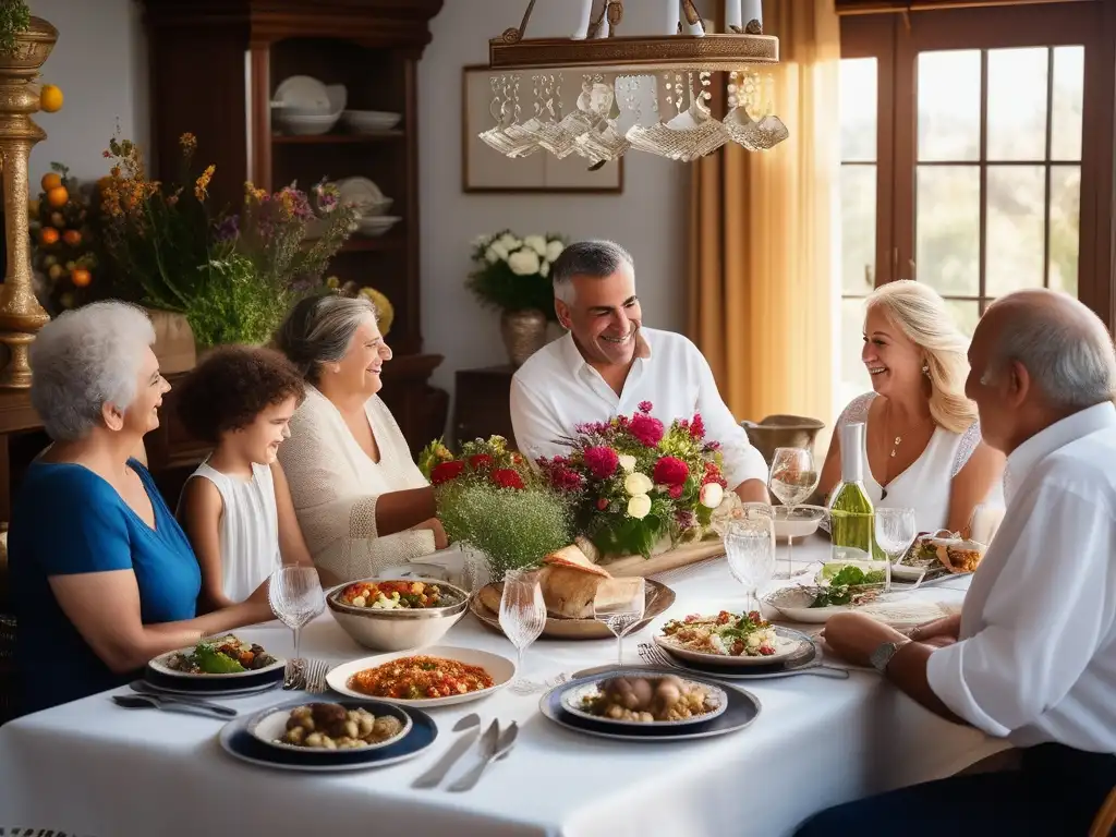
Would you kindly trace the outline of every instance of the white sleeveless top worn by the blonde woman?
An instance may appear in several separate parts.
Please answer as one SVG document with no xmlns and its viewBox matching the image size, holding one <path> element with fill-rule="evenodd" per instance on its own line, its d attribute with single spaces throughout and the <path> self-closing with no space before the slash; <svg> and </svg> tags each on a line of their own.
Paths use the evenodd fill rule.
<svg viewBox="0 0 1116 837">
<path fill-rule="evenodd" d="M 868 407 L 876 393 L 865 393 L 845 407 L 837 420 L 837 433 L 846 424 L 868 422 Z M 838 436 L 839 437 L 839 436 Z M 945 529 L 950 516 L 952 480 L 981 442 L 980 422 L 973 422 L 964 433 L 952 433 L 936 427 L 922 454 L 901 474 L 894 477 L 886 490 L 876 481 L 864 452 L 864 488 L 873 506 L 884 509 L 914 509 L 918 531 L 933 532 Z M 985 507 L 1003 507 L 1003 483 L 997 480 L 984 499 Z"/>
</svg>

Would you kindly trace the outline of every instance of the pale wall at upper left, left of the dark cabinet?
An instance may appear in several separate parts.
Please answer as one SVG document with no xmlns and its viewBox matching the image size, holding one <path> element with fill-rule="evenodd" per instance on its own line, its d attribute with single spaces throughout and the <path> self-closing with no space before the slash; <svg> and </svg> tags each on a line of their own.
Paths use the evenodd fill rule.
<svg viewBox="0 0 1116 837">
<path fill-rule="evenodd" d="M 58 29 L 42 84 L 58 85 L 62 109 L 32 117 L 47 140 L 31 150 L 31 189 L 52 162 L 80 180 L 108 173 L 102 152 L 121 136 L 147 148 L 147 51 L 136 0 L 30 0 L 31 13 Z"/>
</svg>

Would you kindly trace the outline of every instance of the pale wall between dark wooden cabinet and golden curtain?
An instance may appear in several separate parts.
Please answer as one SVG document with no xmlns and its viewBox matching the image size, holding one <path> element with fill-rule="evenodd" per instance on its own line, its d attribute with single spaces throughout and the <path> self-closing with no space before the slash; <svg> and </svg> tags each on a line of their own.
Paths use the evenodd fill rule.
<svg viewBox="0 0 1116 837">
<path fill-rule="evenodd" d="M 573 0 L 537 3 L 528 36 L 568 36 L 577 6 Z M 624 8 L 624 31 L 650 31 L 654 4 L 631 6 Z M 689 166 L 632 152 L 619 195 L 461 191 L 461 68 L 487 64 L 489 38 L 519 26 L 525 7 L 523 0 L 446 0 L 419 65 L 423 337 L 427 352 L 445 355 L 434 383 L 449 389 L 456 369 L 507 362 L 498 315 L 481 308 L 464 287 L 471 241 L 506 227 L 521 234 L 614 239 L 635 259 L 646 325 L 685 327 Z"/>
</svg>

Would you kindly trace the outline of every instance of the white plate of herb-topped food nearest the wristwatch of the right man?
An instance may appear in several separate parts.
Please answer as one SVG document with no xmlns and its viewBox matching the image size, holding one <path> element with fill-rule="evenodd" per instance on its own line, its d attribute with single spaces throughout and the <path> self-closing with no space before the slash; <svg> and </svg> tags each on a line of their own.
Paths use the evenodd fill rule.
<svg viewBox="0 0 1116 837">
<path fill-rule="evenodd" d="M 757 610 L 671 619 L 653 639 L 671 656 L 725 667 L 782 663 L 802 652 L 799 639 L 777 633 Z"/>
</svg>

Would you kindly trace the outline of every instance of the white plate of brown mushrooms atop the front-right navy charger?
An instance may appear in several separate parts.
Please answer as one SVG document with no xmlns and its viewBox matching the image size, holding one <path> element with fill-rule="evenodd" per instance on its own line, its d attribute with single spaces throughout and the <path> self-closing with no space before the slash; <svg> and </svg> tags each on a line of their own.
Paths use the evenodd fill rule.
<svg viewBox="0 0 1116 837">
<path fill-rule="evenodd" d="M 561 693 L 561 706 L 571 715 L 617 727 L 704 723 L 728 705 L 720 686 L 676 675 L 607 677 Z"/>
</svg>

